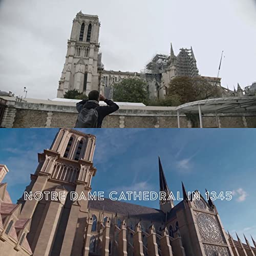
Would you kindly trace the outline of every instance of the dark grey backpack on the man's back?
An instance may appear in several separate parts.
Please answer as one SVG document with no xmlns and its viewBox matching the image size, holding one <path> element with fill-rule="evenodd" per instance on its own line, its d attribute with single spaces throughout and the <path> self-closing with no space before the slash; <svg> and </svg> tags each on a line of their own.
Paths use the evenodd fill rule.
<svg viewBox="0 0 256 256">
<path fill-rule="evenodd" d="M 76 128 L 97 128 L 98 112 L 96 109 L 83 108 L 78 114 Z"/>
</svg>

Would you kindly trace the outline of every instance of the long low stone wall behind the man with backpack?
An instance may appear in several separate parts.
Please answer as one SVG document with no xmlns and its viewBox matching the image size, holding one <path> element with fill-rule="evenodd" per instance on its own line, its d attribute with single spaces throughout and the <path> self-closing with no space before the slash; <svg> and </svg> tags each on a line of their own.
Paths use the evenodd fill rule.
<svg viewBox="0 0 256 256">
<path fill-rule="evenodd" d="M 6 99 L 6 98 L 5 98 Z M 77 111 L 73 102 L 28 99 L 27 102 L 7 100 L 1 127 L 74 127 Z M 256 113 L 203 114 L 204 127 L 256 127 Z M 180 114 L 180 126 L 191 127 L 185 114 Z M 108 128 L 168 128 L 178 127 L 174 107 L 120 106 L 106 116 L 102 127 Z M 198 127 L 198 124 L 197 124 Z"/>
</svg>

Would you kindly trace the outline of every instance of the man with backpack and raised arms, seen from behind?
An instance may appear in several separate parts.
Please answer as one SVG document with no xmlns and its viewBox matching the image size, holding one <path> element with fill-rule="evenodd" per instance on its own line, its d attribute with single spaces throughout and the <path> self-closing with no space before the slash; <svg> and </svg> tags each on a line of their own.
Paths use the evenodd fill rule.
<svg viewBox="0 0 256 256">
<path fill-rule="evenodd" d="M 99 101 L 104 101 L 107 106 L 100 106 Z M 98 91 L 91 91 L 88 100 L 76 103 L 78 117 L 75 128 L 101 128 L 103 118 L 119 109 L 119 106 L 110 99 L 106 99 Z"/>
</svg>

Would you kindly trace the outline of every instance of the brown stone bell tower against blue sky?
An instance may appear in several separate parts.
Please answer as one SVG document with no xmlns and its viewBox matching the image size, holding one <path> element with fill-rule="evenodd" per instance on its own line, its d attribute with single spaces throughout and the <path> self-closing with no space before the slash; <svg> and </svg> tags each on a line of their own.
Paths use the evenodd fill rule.
<svg viewBox="0 0 256 256">
<path fill-rule="evenodd" d="M 50 149 L 38 154 L 38 167 L 26 187 L 32 200 L 24 196 L 21 218 L 32 219 L 27 236 L 33 255 L 80 255 L 88 217 L 95 136 L 73 129 L 60 129 Z M 36 192 L 43 198 L 36 199 Z M 78 198 L 71 199 L 75 191 Z M 47 197 L 46 193 L 56 198 Z M 65 195 L 61 198 L 60 192 Z M 79 199 L 84 195 L 87 199 Z M 81 236 L 77 236 L 81 234 Z"/>
</svg>

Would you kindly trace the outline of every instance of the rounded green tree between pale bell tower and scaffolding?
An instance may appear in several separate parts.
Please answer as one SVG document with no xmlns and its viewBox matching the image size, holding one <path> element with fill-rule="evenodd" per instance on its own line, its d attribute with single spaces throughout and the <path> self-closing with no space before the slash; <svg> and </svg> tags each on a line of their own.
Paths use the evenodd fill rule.
<svg viewBox="0 0 256 256">
<path fill-rule="evenodd" d="M 139 78 L 125 78 L 113 86 L 114 101 L 148 103 L 147 84 Z"/>
</svg>

